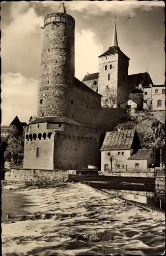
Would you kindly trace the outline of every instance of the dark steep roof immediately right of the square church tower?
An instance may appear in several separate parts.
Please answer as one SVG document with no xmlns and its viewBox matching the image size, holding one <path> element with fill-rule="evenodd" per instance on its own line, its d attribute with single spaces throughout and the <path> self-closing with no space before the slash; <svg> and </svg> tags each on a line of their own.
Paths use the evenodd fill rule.
<svg viewBox="0 0 166 256">
<path fill-rule="evenodd" d="M 131 90 L 135 87 L 138 87 L 139 84 L 142 84 L 142 87 L 149 86 L 149 84 L 153 84 L 152 79 L 148 72 L 138 73 L 128 76 L 128 84 Z"/>
</svg>

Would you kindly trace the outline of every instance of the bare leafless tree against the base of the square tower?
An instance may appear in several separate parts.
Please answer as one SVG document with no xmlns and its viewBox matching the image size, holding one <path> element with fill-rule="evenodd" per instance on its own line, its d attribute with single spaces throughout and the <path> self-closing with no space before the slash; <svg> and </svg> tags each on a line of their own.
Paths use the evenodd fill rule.
<svg viewBox="0 0 166 256">
<path fill-rule="evenodd" d="M 107 88 L 102 94 L 102 106 L 104 108 L 115 108 L 117 106 L 118 90 L 115 86 Z"/>
</svg>

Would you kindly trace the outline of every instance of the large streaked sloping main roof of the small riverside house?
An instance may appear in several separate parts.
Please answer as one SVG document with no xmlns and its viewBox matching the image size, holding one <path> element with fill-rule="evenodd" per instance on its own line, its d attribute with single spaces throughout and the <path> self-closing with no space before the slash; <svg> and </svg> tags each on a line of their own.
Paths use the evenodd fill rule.
<svg viewBox="0 0 166 256">
<path fill-rule="evenodd" d="M 136 130 L 123 130 L 106 132 L 101 151 L 105 150 L 129 150 L 132 146 Z"/>
</svg>

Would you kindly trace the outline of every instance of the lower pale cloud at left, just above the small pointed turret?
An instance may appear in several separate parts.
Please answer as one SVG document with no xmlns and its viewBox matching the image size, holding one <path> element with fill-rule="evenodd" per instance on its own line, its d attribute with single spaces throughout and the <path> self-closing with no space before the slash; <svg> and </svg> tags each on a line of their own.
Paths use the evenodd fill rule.
<svg viewBox="0 0 166 256">
<path fill-rule="evenodd" d="M 9 123 L 18 115 L 20 121 L 29 121 L 37 112 L 38 80 L 25 78 L 21 74 L 2 74 L 2 125 Z"/>
</svg>

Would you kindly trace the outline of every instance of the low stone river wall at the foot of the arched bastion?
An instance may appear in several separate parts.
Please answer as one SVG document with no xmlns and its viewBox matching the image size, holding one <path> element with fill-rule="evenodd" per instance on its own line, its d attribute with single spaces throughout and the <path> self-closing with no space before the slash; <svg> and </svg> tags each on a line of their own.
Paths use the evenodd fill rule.
<svg viewBox="0 0 166 256">
<path fill-rule="evenodd" d="M 39 170 L 39 169 L 16 169 L 12 168 L 5 174 L 7 181 L 37 180 L 40 178 L 48 180 L 66 181 L 69 174 L 75 174 L 75 170 Z"/>
</svg>

